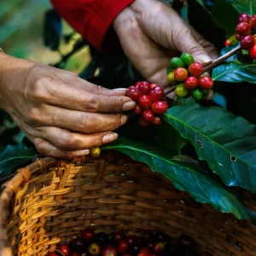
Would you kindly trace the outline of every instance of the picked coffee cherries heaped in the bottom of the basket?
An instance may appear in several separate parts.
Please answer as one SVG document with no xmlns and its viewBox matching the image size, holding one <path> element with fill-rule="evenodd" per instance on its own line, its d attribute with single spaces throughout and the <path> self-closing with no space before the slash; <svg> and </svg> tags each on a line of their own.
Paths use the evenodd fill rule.
<svg viewBox="0 0 256 256">
<path fill-rule="evenodd" d="M 188 235 L 177 240 L 164 232 L 144 231 L 141 236 L 126 236 L 124 232 L 110 235 L 85 229 L 81 237 L 70 244 L 60 244 L 48 256 L 211 256 L 212 253 L 200 253 L 200 247 Z"/>
</svg>

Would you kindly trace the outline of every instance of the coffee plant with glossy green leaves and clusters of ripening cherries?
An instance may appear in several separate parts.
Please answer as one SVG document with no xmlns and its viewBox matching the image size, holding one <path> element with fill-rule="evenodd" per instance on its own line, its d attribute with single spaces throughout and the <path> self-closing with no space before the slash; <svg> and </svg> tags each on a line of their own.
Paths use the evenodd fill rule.
<svg viewBox="0 0 256 256">
<path fill-rule="evenodd" d="M 128 154 L 162 173 L 195 201 L 256 223 L 256 212 L 242 198 L 244 190 L 256 193 L 256 2 L 176 2 L 183 18 L 216 46 L 219 58 L 207 67 L 195 63 L 187 53 L 173 58 L 166 67 L 167 92 L 175 91 L 177 99 L 165 98 L 168 93 L 164 91 L 154 101 L 149 96 L 154 85 L 144 81 L 122 49 L 102 54 L 90 47 L 90 65 L 80 77 L 110 89 L 131 86 L 127 95 L 138 101 L 131 120 L 117 131 L 119 139 L 101 151 Z M 47 20 L 47 26 L 50 24 Z M 55 50 L 61 33 L 50 31 L 52 35 L 44 38 Z M 79 40 L 54 66 L 65 68 L 68 58 L 85 45 Z M 206 71 L 211 77 L 204 76 Z M 138 81 L 143 81 L 140 90 Z M 161 103 L 154 103 L 157 101 Z M 142 125 L 138 122 L 141 117 L 157 125 Z M 26 140 L 24 143 L 26 146 L 8 147 L 0 154 L 0 178 L 6 179 L 20 164 L 32 160 L 33 149 Z"/>
</svg>

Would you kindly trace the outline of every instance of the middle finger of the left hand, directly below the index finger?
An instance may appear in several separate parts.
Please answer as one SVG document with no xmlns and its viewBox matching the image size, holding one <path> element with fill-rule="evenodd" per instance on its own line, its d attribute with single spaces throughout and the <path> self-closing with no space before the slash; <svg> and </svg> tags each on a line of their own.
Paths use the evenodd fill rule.
<svg viewBox="0 0 256 256">
<path fill-rule="evenodd" d="M 32 126 L 55 126 L 85 134 L 113 131 L 126 121 L 127 116 L 121 113 L 86 113 L 53 106 L 26 114 L 26 123 Z"/>
</svg>

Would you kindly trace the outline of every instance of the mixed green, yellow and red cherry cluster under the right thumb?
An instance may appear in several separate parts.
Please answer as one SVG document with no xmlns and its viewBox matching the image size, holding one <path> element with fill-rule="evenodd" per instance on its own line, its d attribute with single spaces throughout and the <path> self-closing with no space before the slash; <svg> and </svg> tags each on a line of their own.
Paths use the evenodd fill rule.
<svg viewBox="0 0 256 256">
<path fill-rule="evenodd" d="M 192 95 L 196 101 L 200 101 L 202 97 L 208 96 L 213 86 L 210 77 L 201 76 L 204 73 L 201 63 L 195 62 L 188 53 L 172 58 L 167 73 L 169 82 L 177 84 L 175 93 L 179 97 Z"/>
</svg>

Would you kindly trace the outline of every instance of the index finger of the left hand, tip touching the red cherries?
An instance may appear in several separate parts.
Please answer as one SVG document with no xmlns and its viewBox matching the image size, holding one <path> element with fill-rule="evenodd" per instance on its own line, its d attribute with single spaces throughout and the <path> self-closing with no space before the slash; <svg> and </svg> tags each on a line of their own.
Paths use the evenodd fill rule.
<svg viewBox="0 0 256 256">
<path fill-rule="evenodd" d="M 38 84 L 36 99 L 62 108 L 93 113 L 119 113 L 136 106 L 136 102 L 126 96 L 92 94 L 68 84 L 56 83 L 55 80 L 43 79 L 42 83 L 44 84 Z"/>
</svg>

